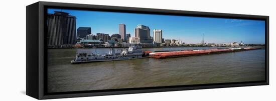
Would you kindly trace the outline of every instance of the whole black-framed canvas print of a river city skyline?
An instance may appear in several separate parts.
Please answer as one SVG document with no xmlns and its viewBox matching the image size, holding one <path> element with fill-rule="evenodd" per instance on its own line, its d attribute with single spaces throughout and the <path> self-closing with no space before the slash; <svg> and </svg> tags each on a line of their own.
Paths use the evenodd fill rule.
<svg viewBox="0 0 276 101">
<path fill-rule="evenodd" d="M 26 15 L 37 99 L 269 81 L 268 16 L 44 1 Z"/>
</svg>

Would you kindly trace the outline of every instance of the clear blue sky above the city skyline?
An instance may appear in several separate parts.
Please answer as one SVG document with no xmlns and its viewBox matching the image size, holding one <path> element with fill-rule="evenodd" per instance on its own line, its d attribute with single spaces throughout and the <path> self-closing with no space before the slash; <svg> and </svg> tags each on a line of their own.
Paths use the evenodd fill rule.
<svg viewBox="0 0 276 101">
<path fill-rule="evenodd" d="M 48 9 L 48 13 L 61 9 Z M 122 12 L 104 12 L 88 10 L 62 9 L 76 16 L 76 26 L 91 27 L 93 34 L 98 32 L 109 35 L 118 33 L 118 24 L 124 23 L 126 33 L 134 36 L 137 24 L 153 29 L 162 29 L 163 38 L 181 39 L 186 43 L 201 43 L 202 33 L 206 43 L 265 43 L 265 22 L 263 20 L 245 20 L 194 16 L 175 16 L 157 14 L 139 14 Z"/>
</svg>

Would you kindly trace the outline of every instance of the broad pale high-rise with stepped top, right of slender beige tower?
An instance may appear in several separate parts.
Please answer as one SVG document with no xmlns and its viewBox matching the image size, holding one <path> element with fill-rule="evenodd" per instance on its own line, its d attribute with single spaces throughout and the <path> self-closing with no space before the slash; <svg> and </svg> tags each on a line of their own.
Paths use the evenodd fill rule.
<svg viewBox="0 0 276 101">
<path fill-rule="evenodd" d="M 139 37 L 141 43 L 152 43 L 150 30 L 149 26 L 138 24 L 134 29 L 135 37 Z"/>
</svg>

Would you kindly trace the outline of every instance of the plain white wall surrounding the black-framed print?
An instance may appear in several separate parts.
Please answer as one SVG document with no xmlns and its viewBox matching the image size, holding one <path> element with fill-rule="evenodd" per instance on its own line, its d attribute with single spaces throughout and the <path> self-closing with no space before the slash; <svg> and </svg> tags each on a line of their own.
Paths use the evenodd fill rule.
<svg viewBox="0 0 276 101">
<path fill-rule="evenodd" d="M 26 93 L 26 5 L 37 2 L 38 0 L 3 0 L 0 6 L 0 34 L 2 47 L 1 66 L 0 66 L 0 94 L 1 100 L 36 100 Z M 57 0 L 45 0 L 57 1 Z M 273 93 L 276 81 L 275 69 L 276 56 L 272 50 L 275 41 L 276 13 L 274 2 L 272 0 L 58 0 L 58 2 L 86 3 L 99 5 L 116 5 L 146 8 L 163 8 L 176 10 L 208 11 L 238 14 L 269 15 L 270 21 L 270 85 L 247 86 L 232 88 L 215 88 L 140 94 L 123 94 L 94 97 L 63 98 L 53 100 L 265 100 L 276 99 Z M 274 39 L 274 40 L 273 40 Z M 7 43 L 8 42 L 8 43 Z M 10 45 L 10 44 L 17 44 Z M 16 61 L 10 61 L 17 57 Z"/>
</svg>

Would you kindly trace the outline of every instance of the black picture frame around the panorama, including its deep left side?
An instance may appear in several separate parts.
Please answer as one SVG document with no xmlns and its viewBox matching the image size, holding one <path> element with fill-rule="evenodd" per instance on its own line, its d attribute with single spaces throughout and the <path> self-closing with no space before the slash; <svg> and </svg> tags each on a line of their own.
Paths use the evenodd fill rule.
<svg viewBox="0 0 276 101">
<path fill-rule="evenodd" d="M 47 92 L 47 40 L 45 22 L 47 8 L 84 9 L 96 11 L 150 13 L 166 15 L 203 16 L 218 18 L 257 19 L 265 21 L 265 80 L 231 83 L 193 84 L 162 87 L 121 88 L 106 90 Z M 269 84 L 269 16 L 230 14 L 200 11 L 183 11 L 139 7 L 106 6 L 92 4 L 60 3 L 39 1 L 26 7 L 26 94 L 37 99 L 82 97 L 127 93 L 176 91 L 205 88 L 237 87 Z"/>
</svg>

